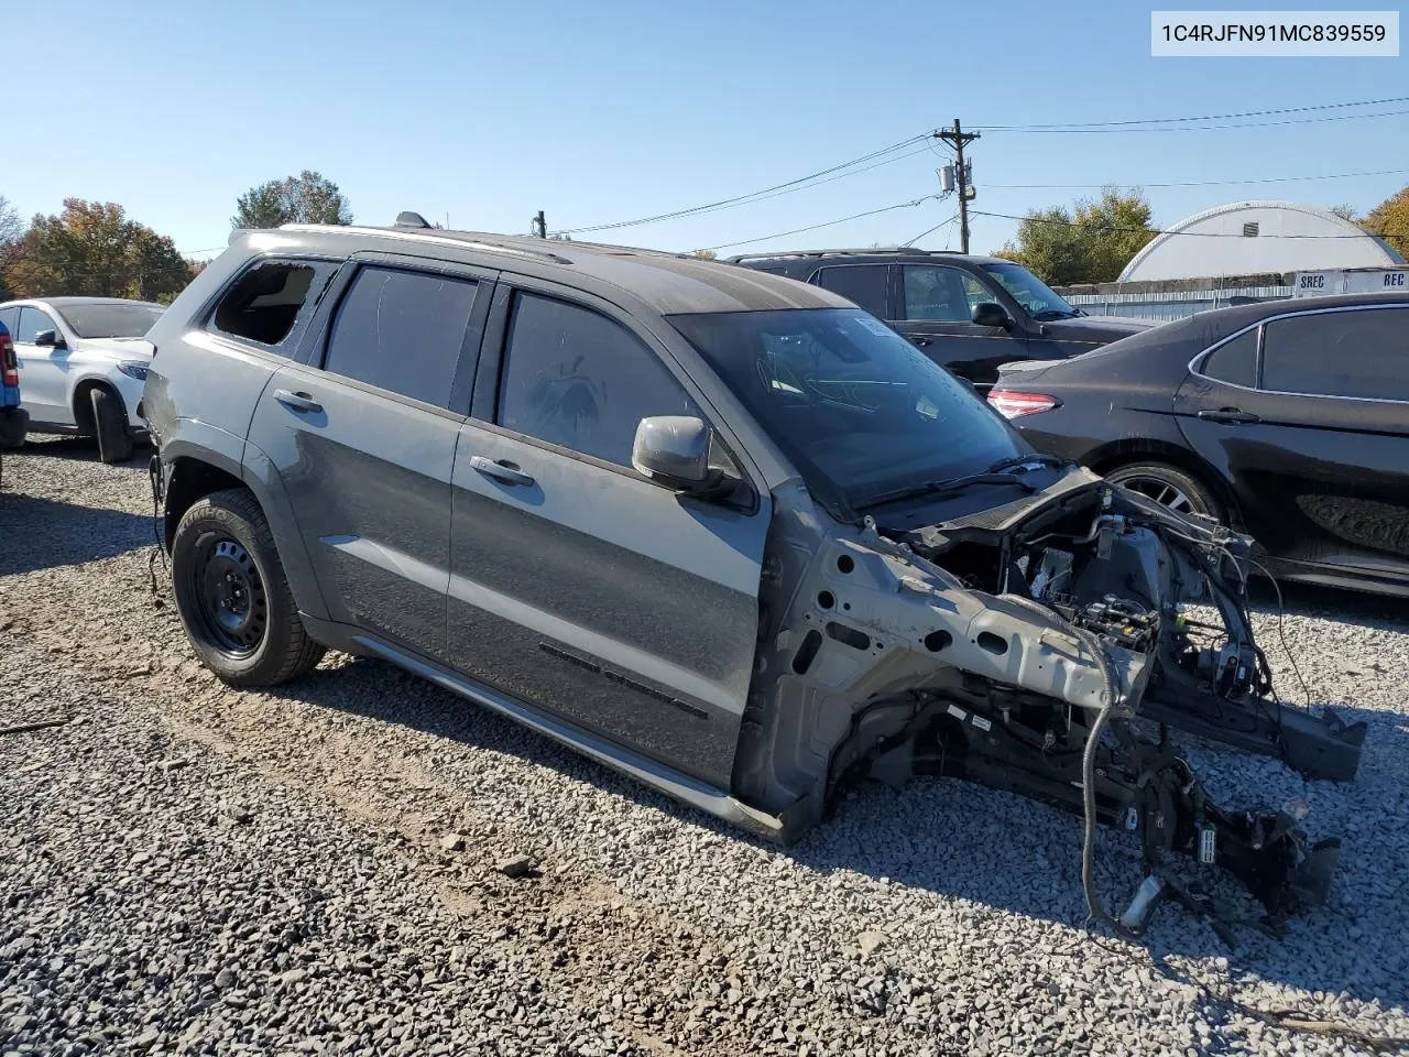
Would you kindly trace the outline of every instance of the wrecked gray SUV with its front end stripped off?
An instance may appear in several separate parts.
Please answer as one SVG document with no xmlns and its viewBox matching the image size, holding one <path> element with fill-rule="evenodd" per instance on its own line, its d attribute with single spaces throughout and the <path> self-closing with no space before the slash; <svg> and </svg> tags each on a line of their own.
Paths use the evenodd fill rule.
<svg viewBox="0 0 1409 1057">
<path fill-rule="evenodd" d="M 1271 696 L 1250 541 L 836 295 L 403 214 L 241 233 L 148 337 L 172 589 L 232 685 L 382 658 L 783 843 L 858 779 L 969 778 L 1082 816 L 1127 934 L 1222 927 L 1215 868 L 1274 933 L 1326 895 L 1337 841 L 1171 736 L 1354 777 L 1363 724 Z M 1120 915 L 1099 824 L 1144 850 Z"/>
</svg>

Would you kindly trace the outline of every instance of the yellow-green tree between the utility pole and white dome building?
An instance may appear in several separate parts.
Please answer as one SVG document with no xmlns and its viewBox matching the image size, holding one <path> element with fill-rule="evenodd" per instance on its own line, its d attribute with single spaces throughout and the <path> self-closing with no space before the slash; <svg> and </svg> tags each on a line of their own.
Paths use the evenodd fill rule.
<svg viewBox="0 0 1409 1057">
<path fill-rule="evenodd" d="M 1150 202 L 1138 189 L 1106 187 L 1069 210 L 1031 210 L 1017 227 L 1017 244 L 995 255 L 1016 261 L 1053 286 L 1113 282 L 1154 238 Z"/>
</svg>

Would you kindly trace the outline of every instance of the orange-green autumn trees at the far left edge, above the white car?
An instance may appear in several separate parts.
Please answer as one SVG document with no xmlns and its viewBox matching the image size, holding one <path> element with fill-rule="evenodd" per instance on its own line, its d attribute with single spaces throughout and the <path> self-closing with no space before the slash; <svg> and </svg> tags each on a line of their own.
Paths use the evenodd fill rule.
<svg viewBox="0 0 1409 1057">
<path fill-rule="evenodd" d="M 37 216 L 4 262 L 6 286 L 28 297 L 162 300 L 190 278 L 190 264 L 170 238 L 130 220 L 117 203 L 83 199 L 65 199 L 59 216 Z"/>
</svg>

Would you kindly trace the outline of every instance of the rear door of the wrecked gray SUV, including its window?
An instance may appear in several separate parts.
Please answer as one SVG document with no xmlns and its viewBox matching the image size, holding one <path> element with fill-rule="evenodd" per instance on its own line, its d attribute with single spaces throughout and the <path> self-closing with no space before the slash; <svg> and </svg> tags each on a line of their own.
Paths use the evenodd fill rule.
<svg viewBox="0 0 1409 1057">
<path fill-rule="evenodd" d="M 451 471 L 495 273 L 358 255 L 249 430 L 330 619 L 445 651 Z"/>
</svg>

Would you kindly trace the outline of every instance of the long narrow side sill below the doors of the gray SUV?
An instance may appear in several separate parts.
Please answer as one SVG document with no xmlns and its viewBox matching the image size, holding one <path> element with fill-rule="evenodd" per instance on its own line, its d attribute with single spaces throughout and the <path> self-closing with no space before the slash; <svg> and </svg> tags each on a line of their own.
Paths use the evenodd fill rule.
<svg viewBox="0 0 1409 1057">
<path fill-rule="evenodd" d="M 414 675 L 420 675 L 423 679 L 428 679 L 461 698 L 468 698 L 490 712 L 497 712 L 500 716 L 511 719 L 530 730 L 551 737 L 554 741 L 576 750 L 585 757 L 610 767 L 613 771 L 619 771 L 659 789 L 672 799 L 688 803 L 692 808 L 699 808 L 707 815 L 713 815 L 717 819 L 723 819 L 733 826 L 738 826 L 775 843 L 786 844 L 790 840 L 788 826 L 782 819 L 750 808 L 743 801 L 690 778 L 675 768 L 665 767 L 640 753 L 623 748 L 614 741 L 550 716 L 531 705 L 526 705 L 499 691 L 447 671 L 437 664 L 389 645 L 372 636 L 355 633 L 351 636 L 351 644 L 358 647 L 361 653 L 379 657 Z"/>
</svg>

